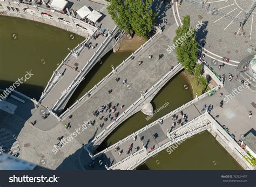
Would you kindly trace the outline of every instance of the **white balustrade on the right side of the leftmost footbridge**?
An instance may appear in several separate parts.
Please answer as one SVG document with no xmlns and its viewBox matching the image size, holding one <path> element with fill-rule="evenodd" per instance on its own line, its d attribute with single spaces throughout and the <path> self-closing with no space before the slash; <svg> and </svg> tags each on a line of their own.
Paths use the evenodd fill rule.
<svg viewBox="0 0 256 187">
<path fill-rule="evenodd" d="M 65 97 L 73 91 L 73 89 L 76 88 L 76 86 L 74 85 L 79 85 L 80 80 L 85 76 L 86 72 L 88 72 L 87 70 L 90 70 L 96 63 L 97 63 L 97 58 L 98 56 L 102 53 L 102 51 L 104 51 L 105 47 L 107 46 L 107 44 L 109 44 L 109 42 L 111 41 L 112 37 L 113 37 L 113 33 L 115 33 L 116 31 L 118 31 L 119 28 L 116 26 L 114 27 L 114 29 L 111 31 L 111 33 L 109 34 L 109 36 L 103 41 L 103 43 L 99 46 L 99 48 L 97 49 L 97 51 L 93 54 L 93 56 L 91 57 L 91 59 L 89 61 L 87 61 L 86 65 L 82 68 L 82 70 L 80 70 L 79 74 L 77 75 L 77 77 L 74 79 L 74 81 L 69 85 L 69 87 L 66 89 L 68 92 L 65 92 L 62 94 L 62 96 L 60 96 L 59 100 L 55 103 L 55 105 L 53 106 L 53 110 L 57 110 L 57 108 L 59 107 L 59 105 L 63 102 L 63 100 L 65 99 Z"/>
</svg>

